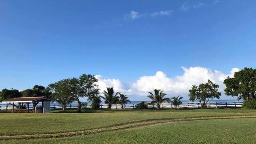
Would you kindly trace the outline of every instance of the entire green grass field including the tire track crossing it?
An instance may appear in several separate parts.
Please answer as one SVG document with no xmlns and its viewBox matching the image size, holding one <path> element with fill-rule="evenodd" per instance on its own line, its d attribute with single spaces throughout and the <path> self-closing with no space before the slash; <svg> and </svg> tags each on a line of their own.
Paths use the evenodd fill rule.
<svg viewBox="0 0 256 144">
<path fill-rule="evenodd" d="M 256 111 L 246 109 L 0 113 L 0 122 L 4 143 L 256 143 Z"/>
</svg>

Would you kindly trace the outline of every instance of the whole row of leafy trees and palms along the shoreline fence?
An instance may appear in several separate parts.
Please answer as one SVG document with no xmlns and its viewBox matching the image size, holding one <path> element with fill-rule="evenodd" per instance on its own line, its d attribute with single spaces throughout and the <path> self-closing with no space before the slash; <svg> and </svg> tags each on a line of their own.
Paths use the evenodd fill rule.
<svg viewBox="0 0 256 144">
<path fill-rule="evenodd" d="M 105 104 L 108 104 L 108 108 L 111 108 L 112 104 L 121 104 L 124 108 L 124 104 L 130 102 L 128 97 L 120 92 L 114 92 L 114 88 L 106 88 L 103 94 L 100 96 L 100 89 L 96 85 L 98 79 L 91 74 L 82 74 L 78 78 L 67 78 L 59 80 L 58 82 L 49 84 L 48 87 L 35 85 L 32 89 L 26 89 L 22 92 L 19 90 L 3 89 L 0 92 L 0 101 L 8 98 L 16 97 L 31 97 L 31 96 L 45 96 L 51 98 L 60 103 L 64 110 L 66 105 L 70 102 L 78 102 L 78 112 L 81 111 L 82 102 L 79 98 L 86 97 L 91 103 L 92 108 L 99 108 L 101 99 Z M 239 72 L 235 72 L 234 77 L 229 76 L 224 80 L 226 88 L 224 92 L 226 96 L 238 97 L 238 99 L 245 100 L 244 108 L 256 108 L 256 69 L 244 68 Z M 200 84 L 198 86 L 193 85 L 189 90 L 189 98 L 191 101 L 198 100 L 202 108 L 206 108 L 207 102 L 214 98 L 219 99 L 221 93 L 218 92 L 219 85 L 215 84 L 211 80 L 207 83 Z M 160 104 L 163 102 L 172 102 L 174 106 L 182 104 L 181 99 L 183 97 L 173 96 L 172 98 L 165 98 L 166 94 L 161 90 L 154 90 L 154 93 L 148 92 L 147 96 L 152 100 L 151 104 L 156 104 L 157 108 L 160 108 Z M 146 102 L 142 102 L 136 106 L 137 108 L 145 108 Z"/>
</svg>

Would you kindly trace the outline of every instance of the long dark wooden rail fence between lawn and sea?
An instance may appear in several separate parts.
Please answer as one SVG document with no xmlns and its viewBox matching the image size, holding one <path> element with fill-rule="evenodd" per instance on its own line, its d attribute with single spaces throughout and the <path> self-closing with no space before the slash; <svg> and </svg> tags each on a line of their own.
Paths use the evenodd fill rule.
<svg viewBox="0 0 256 144">
<path fill-rule="evenodd" d="M 214 102 L 214 103 L 207 103 L 207 108 L 241 108 L 243 102 Z M 66 105 L 66 109 L 77 109 L 77 104 L 69 104 Z M 83 107 L 84 109 L 90 109 L 91 106 L 87 105 Z M 101 104 L 100 109 L 107 109 L 107 104 Z M 124 106 L 125 109 L 135 109 L 135 104 L 126 104 Z M 156 108 L 156 105 L 148 104 L 148 108 Z M 175 108 L 173 104 L 161 104 L 160 108 Z M 183 103 L 177 106 L 177 108 L 201 108 L 200 103 Z M 63 109 L 61 105 L 51 105 L 51 110 L 60 110 Z M 112 105 L 111 109 L 122 109 L 122 106 L 120 104 Z"/>
</svg>

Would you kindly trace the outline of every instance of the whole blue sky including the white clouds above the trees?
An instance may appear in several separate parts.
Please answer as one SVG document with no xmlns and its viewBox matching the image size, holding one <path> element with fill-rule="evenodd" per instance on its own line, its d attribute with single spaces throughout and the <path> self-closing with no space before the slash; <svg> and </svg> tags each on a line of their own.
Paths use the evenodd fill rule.
<svg viewBox="0 0 256 144">
<path fill-rule="evenodd" d="M 130 100 L 162 89 L 188 100 L 256 68 L 255 0 L 1 0 L 0 89 L 94 74 Z"/>
</svg>

